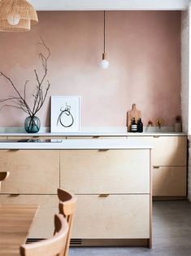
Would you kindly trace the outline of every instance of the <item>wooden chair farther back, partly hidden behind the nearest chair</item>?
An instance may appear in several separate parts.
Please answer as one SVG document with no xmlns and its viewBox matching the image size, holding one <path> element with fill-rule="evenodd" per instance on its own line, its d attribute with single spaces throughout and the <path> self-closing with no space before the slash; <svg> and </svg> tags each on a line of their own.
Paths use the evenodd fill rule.
<svg viewBox="0 0 191 256">
<path fill-rule="evenodd" d="M 76 196 L 64 191 L 63 189 L 58 188 L 57 191 L 59 197 L 59 214 L 63 214 L 63 216 L 67 219 L 67 223 L 69 225 L 69 231 L 67 233 L 67 246 L 64 250 L 63 256 L 68 255 L 68 250 L 70 246 L 70 239 L 72 233 L 72 223 L 73 223 L 73 214 L 76 210 Z"/>
</svg>

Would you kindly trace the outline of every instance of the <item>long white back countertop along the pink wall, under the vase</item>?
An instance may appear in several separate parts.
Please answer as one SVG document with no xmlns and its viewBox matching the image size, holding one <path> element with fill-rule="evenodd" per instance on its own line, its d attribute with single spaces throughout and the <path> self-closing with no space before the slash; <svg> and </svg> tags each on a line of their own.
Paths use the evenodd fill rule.
<svg viewBox="0 0 191 256">
<path fill-rule="evenodd" d="M 25 137 L 67 137 L 67 136 L 114 136 L 114 137 L 127 137 L 127 136 L 186 136 L 183 132 L 45 132 L 45 133 L 0 133 L 0 136 L 25 136 Z"/>
</svg>

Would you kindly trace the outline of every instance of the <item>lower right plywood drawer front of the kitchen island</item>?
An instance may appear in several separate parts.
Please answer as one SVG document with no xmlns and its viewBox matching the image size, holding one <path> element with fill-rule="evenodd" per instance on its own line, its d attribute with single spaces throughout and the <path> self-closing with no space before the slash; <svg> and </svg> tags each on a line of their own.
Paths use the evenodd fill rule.
<svg viewBox="0 0 191 256">
<path fill-rule="evenodd" d="M 149 195 L 78 195 L 72 238 L 150 237 Z"/>
</svg>

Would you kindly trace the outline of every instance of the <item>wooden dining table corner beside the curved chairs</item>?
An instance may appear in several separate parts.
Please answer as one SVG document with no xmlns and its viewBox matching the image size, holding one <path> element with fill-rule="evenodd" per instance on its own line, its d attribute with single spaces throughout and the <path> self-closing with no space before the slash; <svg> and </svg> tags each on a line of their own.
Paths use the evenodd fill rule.
<svg viewBox="0 0 191 256">
<path fill-rule="evenodd" d="M 0 204 L 0 256 L 20 255 L 38 205 Z"/>
</svg>

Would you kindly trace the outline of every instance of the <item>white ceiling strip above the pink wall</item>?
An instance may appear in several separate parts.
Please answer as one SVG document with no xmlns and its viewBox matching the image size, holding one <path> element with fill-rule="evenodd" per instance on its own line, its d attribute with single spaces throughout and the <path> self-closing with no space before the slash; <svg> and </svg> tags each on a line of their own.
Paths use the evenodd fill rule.
<svg viewBox="0 0 191 256">
<path fill-rule="evenodd" d="M 37 11 L 185 10 L 189 0 L 28 0 Z"/>
</svg>

